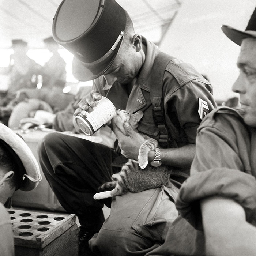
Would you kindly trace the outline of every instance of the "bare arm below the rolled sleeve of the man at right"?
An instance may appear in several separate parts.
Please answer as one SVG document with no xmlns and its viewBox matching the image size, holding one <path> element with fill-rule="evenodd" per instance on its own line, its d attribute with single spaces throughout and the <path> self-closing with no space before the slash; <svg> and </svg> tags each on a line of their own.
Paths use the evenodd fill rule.
<svg viewBox="0 0 256 256">
<path fill-rule="evenodd" d="M 215 196 L 201 200 L 201 211 L 207 256 L 256 255 L 256 228 L 240 204 Z"/>
</svg>

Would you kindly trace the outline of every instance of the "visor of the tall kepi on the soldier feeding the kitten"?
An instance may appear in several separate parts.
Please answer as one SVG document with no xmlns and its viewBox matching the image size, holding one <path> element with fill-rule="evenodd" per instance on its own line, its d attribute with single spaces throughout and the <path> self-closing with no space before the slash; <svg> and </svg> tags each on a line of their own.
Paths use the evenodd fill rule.
<svg viewBox="0 0 256 256">
<path fill-rule="evenodd" d="M 94 66 L 86 65 L 86 63 L 83 63 L 74 56 L 72 63 L 72 74 L 75 79 L 77 79 L 78 81 L 90 81 L 101 76 L 104 72 L 108 70 L 108 68 L 113 63 L 122 42 L 123 38 L 120 40 L 116 48 L 106 59 L 104 59 L 100 64 L 96 64 Z"/>
</svg>

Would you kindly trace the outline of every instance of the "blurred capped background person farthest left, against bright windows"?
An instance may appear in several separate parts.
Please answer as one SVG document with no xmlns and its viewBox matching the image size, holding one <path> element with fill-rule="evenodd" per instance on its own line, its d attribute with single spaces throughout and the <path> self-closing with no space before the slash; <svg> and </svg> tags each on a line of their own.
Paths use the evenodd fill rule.
<svg viewBox="0 0 256 256">
<path fill-rule="evenodd" d="M 8 90 L 0 99 L 0 121 L 4 124 L 8 123 L 17 91 L 22 88 L 36 88 L 41 69 L 39 64 L 27 56 L 27 42 L 22 39 L 12 40 L 12 49 L 14 53 L 10 56 L 9 66 L 0 69 L 1 74 L 8 75 Z"/>
</svg>

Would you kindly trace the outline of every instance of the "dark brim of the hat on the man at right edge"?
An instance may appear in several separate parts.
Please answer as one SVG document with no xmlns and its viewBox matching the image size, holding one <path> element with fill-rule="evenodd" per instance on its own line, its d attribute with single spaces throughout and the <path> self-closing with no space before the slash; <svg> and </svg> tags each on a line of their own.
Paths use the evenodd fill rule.
<svg viewBox="0 0 256 256">
<path fill-rule="evenodd" d="M 252 31 L 252 30 L 240 31 L 227 25 L 222 25 L 221 29 L 223 33 L 237 45 L 241 45 L 242 41 L 245 38 L 248 38 L 248 37 L 256 38 L 256 31 Z"/>
</svg>

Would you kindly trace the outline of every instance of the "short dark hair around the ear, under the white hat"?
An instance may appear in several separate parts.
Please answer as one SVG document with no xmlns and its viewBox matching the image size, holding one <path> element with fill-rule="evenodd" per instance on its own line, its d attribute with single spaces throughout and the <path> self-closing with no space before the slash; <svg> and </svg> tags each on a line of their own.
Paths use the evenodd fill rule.
<svg viewBox="0 0 256 256">
<path fill-rule="evenodd" d="M 20 184 L 19 164 L 16 161 L 18 155 L 14 155 L 12 151 L 11 147 L 0 139 L 0 177 L 3 177 L 5 173 L 11 170 L 14 171 L 14 176 L 8 180 L 8 184 L 11 188 L 18 189 Z"/>
</svg>

